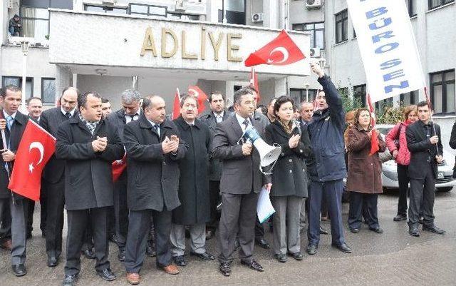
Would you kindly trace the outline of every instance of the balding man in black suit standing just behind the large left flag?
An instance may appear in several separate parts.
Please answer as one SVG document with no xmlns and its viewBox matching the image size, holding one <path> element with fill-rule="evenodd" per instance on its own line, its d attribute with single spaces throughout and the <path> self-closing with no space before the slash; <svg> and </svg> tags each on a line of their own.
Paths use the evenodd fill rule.
<svg viewBox="0 0 456 286">
<path fill-rule="evenodd" d="M 74 116 L 79 91 L 77 88 L 63 89 L 61 106 L 48 109 L 41 114 L 40 126 L 57 136 L 58 126 Z M 48 160 L 43 170 L 42 188 L 46 190 L 46 253 L 48 266 L 55 267 L 62 252 L 63 207 L 65 206 L 65 161 L 56 155 Z M 43 192 L 41 192 L 43 193 Z M 43 213 L 41 205 L 41 213 Z"/>
</svg>

